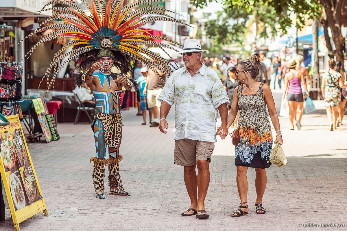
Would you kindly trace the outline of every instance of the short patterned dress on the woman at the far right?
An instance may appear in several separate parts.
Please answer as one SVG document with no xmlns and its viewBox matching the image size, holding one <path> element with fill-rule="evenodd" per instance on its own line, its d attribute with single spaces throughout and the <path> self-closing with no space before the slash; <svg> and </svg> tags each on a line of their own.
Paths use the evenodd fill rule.
<svg viewBox="0 0 347 231">
<path fill-rule="evenodd" d="M 324 105 L 325 107 L 338 107 L 341 101 L 341 91 L 339 86 L 339 79 L 342 75 L 339 72 L 331 71 L 325 72 L 323 80 L 325 82 L 324 88 Z M 335 84 L 334 84 L 335 83 Z"/>
</svg>

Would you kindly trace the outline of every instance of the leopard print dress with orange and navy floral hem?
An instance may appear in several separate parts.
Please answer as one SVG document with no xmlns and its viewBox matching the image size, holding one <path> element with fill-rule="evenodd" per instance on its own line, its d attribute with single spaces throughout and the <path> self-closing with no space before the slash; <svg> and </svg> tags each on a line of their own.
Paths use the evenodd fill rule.
<svg viewBox="0 0 347 231">
<path fill-rule="evenodd" d="M 263 98 L 263 85 L 260 85 L 259 94 L 256 95 L 243 95 L 243 85 L 238 86 L 240 142 L 235 146 L 236 166 L 264 169 L 271 165 L 272 134 Z"/>
</svg>

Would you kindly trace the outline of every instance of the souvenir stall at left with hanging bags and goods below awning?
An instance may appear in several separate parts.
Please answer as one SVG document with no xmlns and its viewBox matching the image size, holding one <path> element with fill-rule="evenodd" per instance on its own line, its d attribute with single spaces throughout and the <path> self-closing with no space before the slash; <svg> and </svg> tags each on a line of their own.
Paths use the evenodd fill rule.
<svg viewBox="0 0 347 231">
<path fill-rule="evenodd" d="M 44 5 L 43 0 L 38 2 Z M 59 140 L 54 114 L 61 102 L 24 95 L 28 61 L 24 62 L 23 57 L 28 46 L 26 41 L 19 43 L 34 28 L 34 12 L 40 9 L 25 1 L 0 2 L 0 112 L 3 116 L 19 116 L 28 141 L 44 137 L 51 142 Z M 49 11 L 42 14 L 43 18 L 49 15 Z"/>
</svg>

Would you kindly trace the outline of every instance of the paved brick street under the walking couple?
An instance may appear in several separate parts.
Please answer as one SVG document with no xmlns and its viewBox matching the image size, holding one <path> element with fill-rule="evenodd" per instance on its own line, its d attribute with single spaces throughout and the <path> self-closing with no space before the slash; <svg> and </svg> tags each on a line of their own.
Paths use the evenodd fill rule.
<svg viewBox="0 0 347 231">
<path fill-rule="evenodd" d="M 274 92 L 279 107 L 281 92 Z M 136 109 L 122 112 L 120 150 L 124 159 L 120 162 L 120 174 L 130 197 L 107 193 L 106 199 L 95 198 L 89 163 L 95 153 L 91 127 L 87 123 L 59 123 L 59 141 L 28 144 L 49 216 L 44 217 L 41 212 L 20 223 L 20 229 L 259 231 L 303 229 L 298 224 L 306 223 L 347 226 L 347 118 L 346 125 L 331 132 L 323 102 L 315 104 L 318 110 L 303 116 L 299 131 L 291 131 L 288 118 L 280 117 L 282 147 L 288 163 L 266 170 L 266 214 L 255 213 L 255 171 L 249 169 L 250 211 L 236 218 L 230 217 L 240 203 L 230 136 L 215 144 L 205 201 L 210 218 L 198 220 L 195 216 L 180 216 L 189 208 L 189 197 L 183 167 L 173 164 L 174 108 L 168 116 L 166 135 L 158 128 L 141 125 L 142 117 L 135 115 Z M 346 228 L 305 228 L 341 229 Z M 9 210 L 0 230 L 14 230 Z"/>
</svg>

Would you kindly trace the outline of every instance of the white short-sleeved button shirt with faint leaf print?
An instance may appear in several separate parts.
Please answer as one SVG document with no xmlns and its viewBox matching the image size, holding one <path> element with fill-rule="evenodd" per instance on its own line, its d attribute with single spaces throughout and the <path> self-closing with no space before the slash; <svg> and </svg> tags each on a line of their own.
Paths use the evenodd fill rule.
<svg viewBox="0 0 347 231">
<path fill-rule="evenodd" d="M 164 86 L 158 100 L 175 104 L 175 140 L 216 141 L 217 108 L 229 98 L 217 73 L 202 65 L 191 77 L 184 66 Z"/>
</svg>

